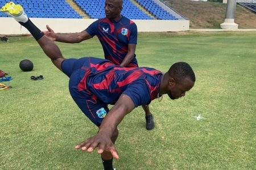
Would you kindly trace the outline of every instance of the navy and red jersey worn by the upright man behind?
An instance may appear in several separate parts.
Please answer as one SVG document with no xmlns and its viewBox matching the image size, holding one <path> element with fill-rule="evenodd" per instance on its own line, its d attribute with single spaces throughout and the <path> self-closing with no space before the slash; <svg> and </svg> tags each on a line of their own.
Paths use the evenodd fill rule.
<svg viewBox="0 0 256 170">
<path fill-rule="evenodd" d="M 114 23 L 108 18 L 96 20 L 85 29 L 91 36 L 96 35 L 104 50 L 105 59 L 120 65 L 128 52 L 128 44 L 137 44 L 137 25 L 130 19 L 122 18 Z M 138 67 L 134 58 L 126 67 Z"/>
</svg>

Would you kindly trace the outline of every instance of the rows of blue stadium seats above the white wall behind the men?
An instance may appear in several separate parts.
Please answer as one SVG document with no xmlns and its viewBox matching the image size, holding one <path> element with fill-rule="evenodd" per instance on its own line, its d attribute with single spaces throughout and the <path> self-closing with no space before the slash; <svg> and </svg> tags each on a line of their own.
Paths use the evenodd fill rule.
<svg viewBox="0 0 256 170">
<path fill-rule="evenodd" d="M 90 18 L 105 17 L 105 0 L 73 0 Z M 132 2 L 133 1 L 133 2 Z M 6 2 L 0 0 L 0 6 Z M 65 0 L 16 0 L 16 4 L 22 5 L 30 18 L 82 18 Z M 164 10 L 152 0 L 123 0 L 121 14 L 129 19 L 143 20 L 178 20 L 172 14 Z M 147 15 L 148 12 L 150 15 Z M 0 13 L 0 17 L 8 17 Z"/>
</svg>

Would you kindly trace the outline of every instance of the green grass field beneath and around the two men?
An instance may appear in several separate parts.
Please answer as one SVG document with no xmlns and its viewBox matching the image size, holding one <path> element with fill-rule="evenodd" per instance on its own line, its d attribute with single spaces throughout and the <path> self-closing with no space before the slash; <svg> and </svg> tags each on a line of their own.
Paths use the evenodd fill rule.
<svg viewBox="0 0 256 170">
<path fill-rule="evenodd" d="M 75 150 L 97 128 L 68 92 L 68 78 L 32 37 L 0 42 L 0 69 L 13 77 L 0 91 L 0 169 L 102 169 L 100 155 Z M 96 38 L 62 44 L 67 58 L 102 57 Z M 185 61 L 195 87 L 179 100 L 154 100 L 155 129 L 138 107 L 118 126 L 118 169 L 256 169 L 255 32 L 139 33 L 140 66 L 167 71 Z M 34 70 L 22 72 L 30 59 Z M 43 75 L 39 81 L 30 76 Z M 201 115 L 204 119 L 197 121 Z"/>
</svg>

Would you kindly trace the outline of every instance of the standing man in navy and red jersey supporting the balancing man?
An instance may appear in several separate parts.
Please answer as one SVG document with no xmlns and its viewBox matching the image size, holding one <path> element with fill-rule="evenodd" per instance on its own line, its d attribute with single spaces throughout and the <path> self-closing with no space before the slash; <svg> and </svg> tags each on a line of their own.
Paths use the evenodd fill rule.
<svg viewBox="0 0 256 170">
<path fill-rule="evenodd" d="M 106 0 L 106 18 L 98 19 L 85 31 L 71 34 L 55 34 L 47 25 L 44 31 L 52 41 L 79 43 L 97 36 L 104 50 L 105 59 L 123 67 L 138 67 L 135 49 L 137 44 L 137 25 L 121 15 L 122 0 Z M 154 129 L 154 117 L 148 105 L 142 106 L 146 117 L 146 129 Z"/>
</svg>

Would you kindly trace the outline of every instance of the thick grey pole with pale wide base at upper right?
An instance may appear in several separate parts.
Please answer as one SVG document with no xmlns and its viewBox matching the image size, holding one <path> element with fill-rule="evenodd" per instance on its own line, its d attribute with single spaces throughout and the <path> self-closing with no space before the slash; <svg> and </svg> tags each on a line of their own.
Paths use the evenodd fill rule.
<svg viewBox="0 0 256 170">
<path fill-rule="evenodd" d="M 237 0 L 228 0 L 226 5 L 226 18 L 224 23 L 220 24 L 223 29 L 238 29 L 238 24 L 234 23 Z"/>
</svg>

